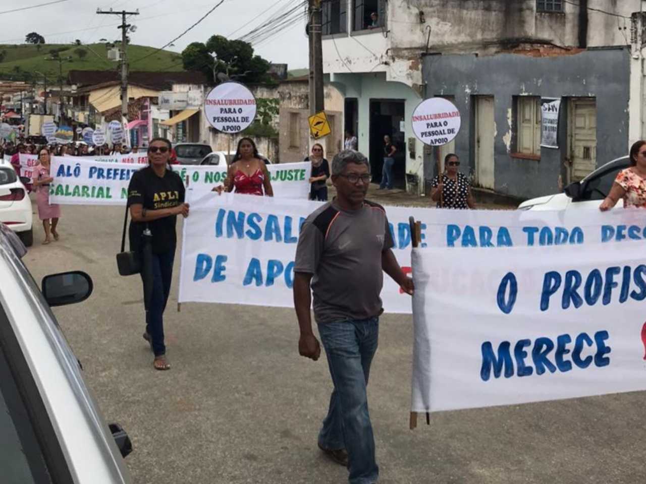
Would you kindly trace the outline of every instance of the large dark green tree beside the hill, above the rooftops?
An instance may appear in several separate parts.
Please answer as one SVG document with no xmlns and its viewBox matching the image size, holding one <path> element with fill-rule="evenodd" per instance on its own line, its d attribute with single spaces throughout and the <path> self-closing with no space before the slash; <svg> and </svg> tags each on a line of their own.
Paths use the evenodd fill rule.
<svg viewBox="0 0 646 484">
<path fill-rule="evenodd" d="M 215 61 L 211 54 L 215 54 Z M 267 74 L 269 61 L 254 55 L 251 44 L 222 35 L 212 35 L 207 43 L 193 42 L 182 52 L 186 70 L 199 70 L 213 81 L 213 68 L 245 83 L 273 83 Z M 215 82 L 215 81 L 214 81 Z"/>
</svg>

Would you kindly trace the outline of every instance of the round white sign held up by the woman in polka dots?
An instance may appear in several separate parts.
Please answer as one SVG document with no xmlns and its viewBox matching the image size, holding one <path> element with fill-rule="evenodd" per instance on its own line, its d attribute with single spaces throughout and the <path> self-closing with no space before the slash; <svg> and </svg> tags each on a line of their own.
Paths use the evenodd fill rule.
<svg viewBox="0 0 646 484">
<path fill-rule="evenodd" d="M 444 97 L 425 99 L 413 111 L 413 132 L 425 145 L 450 143 L 457 136 L 460 125 L 460 112 Z"/>
</svg>

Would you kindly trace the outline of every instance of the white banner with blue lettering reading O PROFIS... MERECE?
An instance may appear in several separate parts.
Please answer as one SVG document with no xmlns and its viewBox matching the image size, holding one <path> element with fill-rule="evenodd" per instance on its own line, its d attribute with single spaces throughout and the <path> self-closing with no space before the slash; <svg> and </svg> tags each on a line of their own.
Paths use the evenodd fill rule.
<svg viewBox="0 0 646 484">
<path fill-rule="evenodd" d="M 646 390 L 643 254 L 413 249 L 413 412 Z"/>
</svg>

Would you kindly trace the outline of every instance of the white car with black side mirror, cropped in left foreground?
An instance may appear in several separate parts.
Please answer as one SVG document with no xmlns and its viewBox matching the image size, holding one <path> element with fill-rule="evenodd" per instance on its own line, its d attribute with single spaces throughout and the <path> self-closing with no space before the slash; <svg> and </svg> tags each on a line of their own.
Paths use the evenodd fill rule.
<svg viewBox="0 0 646 484">
<path fill-rule="evenodd" d="M 87 299 L 92 279 L 52 274 L 39 290 L 21 261 L 25 253 L 0 223 L 0 481 L 129 483 L 123 457 L 130 439 L 104 423 L 50 309 Z"/>
</svg>

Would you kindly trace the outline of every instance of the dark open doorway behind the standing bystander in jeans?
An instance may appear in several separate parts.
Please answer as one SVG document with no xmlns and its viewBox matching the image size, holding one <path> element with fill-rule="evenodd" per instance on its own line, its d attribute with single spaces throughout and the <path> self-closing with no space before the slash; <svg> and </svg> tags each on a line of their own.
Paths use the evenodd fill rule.
<svg viewBox="0 0 646 484">
<path fill-rule="evenodd" d="M 404 140 L 404 108 L 406 101 L 399 99 L 370 100 L 370 169 L 372 181 L 381 181 L 384 165 L 384 136 L 390 136 L 397 148 L 393 167 L 394 187 L 406 189 L 406 143 Z"/>
</svg>

